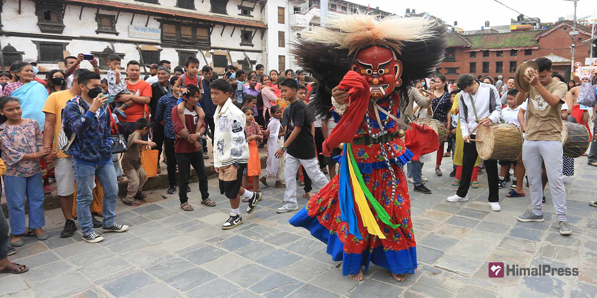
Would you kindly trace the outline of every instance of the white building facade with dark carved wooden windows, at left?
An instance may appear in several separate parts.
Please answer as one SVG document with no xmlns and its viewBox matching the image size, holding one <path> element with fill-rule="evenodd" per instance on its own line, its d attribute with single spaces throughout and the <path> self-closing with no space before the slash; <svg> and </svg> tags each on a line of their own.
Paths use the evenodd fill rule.
<svg viewBox="0 0 597 298">
<path fill-rule="evenodd" d="M 63 58 L 108 54 L 143 65 L 194 56 L 222 72 L 253 69 L 266 55 L 266 0 L 4 0 L 2 67 L 37 61 L 41 73 L 64 69 Z M 82 63 L 90 68 L 90 64 Z"/>
</svg>

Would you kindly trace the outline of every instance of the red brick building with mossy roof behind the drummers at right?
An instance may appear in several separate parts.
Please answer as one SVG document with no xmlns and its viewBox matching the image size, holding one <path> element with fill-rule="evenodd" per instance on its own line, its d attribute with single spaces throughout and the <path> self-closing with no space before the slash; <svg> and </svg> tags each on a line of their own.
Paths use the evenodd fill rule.
<svg viewBox="0 0 597 298">
<path fill-rule="evenodd" d="M 543 30 L 514 31 L 507 33 L 485 33 L 448 35 L 448 48 L 444 61 L 437 72 L 448 80 L 457 80 L 464 73 L 505 78 L 513 77 L 521 63 L 539 57 L 555 57 L 554 73 L 570 77 L 570 46 L 576 44 L 574 61 L 589 57 L 589 45 L 584 43 L 591 37 L 589 27 L 577 24 L 578 35 L 571 36 L 572 21 L 560 21 Z"/>
</svg>

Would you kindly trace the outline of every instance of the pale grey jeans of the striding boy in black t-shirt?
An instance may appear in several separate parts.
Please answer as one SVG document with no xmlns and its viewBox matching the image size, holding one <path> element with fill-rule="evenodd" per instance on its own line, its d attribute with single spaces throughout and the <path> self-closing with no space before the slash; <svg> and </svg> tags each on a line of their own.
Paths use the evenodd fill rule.
<svg viewBox="0 0 597 298">
<path fill-rule="evenodd" d="M 303 165 L 303 169 L 309 174 L 309 177 L 313 179 L 316 187 L 322 188 L 330 182 L 324 173 L 319 170 L 315 157 L 312 159 L 297 159 L 286 153 L 286 164 L 284 166 L 286 191 L 284 192 L 284 202 L 294 204 L 294 206 L 297 205 L 297 170 L 301 164 Z"/>
</svg>

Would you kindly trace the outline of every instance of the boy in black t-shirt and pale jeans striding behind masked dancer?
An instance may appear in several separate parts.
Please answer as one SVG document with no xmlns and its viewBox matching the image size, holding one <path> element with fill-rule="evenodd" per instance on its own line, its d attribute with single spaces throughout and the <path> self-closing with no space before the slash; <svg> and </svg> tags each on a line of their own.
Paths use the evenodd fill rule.
<svg viewBox="0 0 597 298">
<path fill-rule="evenodd" d="M 276 151 L 276 157 L 282 157 L 286 152 L 284 179 L 286 204 L 278 208 L 278 213 L 298 210 L 296 173 L 298 166 L 303 165 L 307 175 L 318 188 L 327 184 L 328 178 L 319 170 L 315 157 L 315 140 L 311 132 L 311 122 L 307 106 L 297 98 L 298 84 L 296 80 L 287 79 L 280 84 L 280 91 L 285 100 L 290 101 L 290 121 L 288 122 L 287 138 L 281 148 Z"/>
</svg>

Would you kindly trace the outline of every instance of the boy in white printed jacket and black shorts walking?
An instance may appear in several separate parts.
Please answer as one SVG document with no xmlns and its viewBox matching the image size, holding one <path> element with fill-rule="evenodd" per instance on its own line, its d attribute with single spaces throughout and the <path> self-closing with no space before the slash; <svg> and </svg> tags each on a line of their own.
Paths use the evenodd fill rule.
<svg viewBox="0 0 597 298">
<path fill-rule="evenodd" d="M 242 188 L 242 172 L 247 168 L 249 146 L 245 134 L 245 114 L 230 100 L 232 86 L 227 80 L 217 79 L 210 83 L 214 113 L 214 167 L 219 173 L 220 193 L 230 200 L 230 218 L 222 229 L 232 229 L 242 224 L 239 205 L 241 196 L 249 198 L 247 213 L 253 212 L 261 200 L 261 193 Z"/>
</svg>

